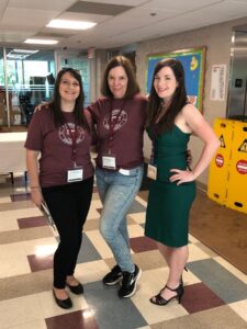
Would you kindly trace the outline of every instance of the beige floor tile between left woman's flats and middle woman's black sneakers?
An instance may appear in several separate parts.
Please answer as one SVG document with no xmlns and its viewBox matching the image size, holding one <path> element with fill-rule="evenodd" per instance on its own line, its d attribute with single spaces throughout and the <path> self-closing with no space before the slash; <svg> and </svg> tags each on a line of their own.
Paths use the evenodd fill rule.
<svg viewBox="0 0 247 329">
<path fill-rule="evenodd" d="M 82 283 L 101 281 L 109 266 L 103 260 L 78 264 L 76 266 L 76 277 Z"/>
</svg>

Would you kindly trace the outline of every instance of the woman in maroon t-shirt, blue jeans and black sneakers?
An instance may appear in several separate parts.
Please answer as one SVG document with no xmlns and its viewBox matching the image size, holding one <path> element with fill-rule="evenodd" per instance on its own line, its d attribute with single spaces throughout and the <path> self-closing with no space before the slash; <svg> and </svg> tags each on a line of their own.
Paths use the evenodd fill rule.
<svg viewBox="0 0 247 329">
<path fill-rule="evenodd" d="M 97 185 L 103 204 L 100 231 L 111 248 L 116 265 L 103 277 L 105 285 L 117 284 L 120 297 L 131 297 L 142 270 L 133 263 L 126 214 L 143 179 L 143 134 L 147 100 L 141 97 L 131 61 L 112 58 L 104 70 L 104 99 L 88 110 L 98 133 Z"/>
</svg>

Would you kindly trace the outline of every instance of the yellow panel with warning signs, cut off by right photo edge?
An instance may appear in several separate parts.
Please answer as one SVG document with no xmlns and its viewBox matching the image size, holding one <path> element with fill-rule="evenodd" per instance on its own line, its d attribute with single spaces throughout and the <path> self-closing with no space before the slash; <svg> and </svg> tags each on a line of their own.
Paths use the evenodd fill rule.
<svg viewBox="0 0 247 329">
<path fill-rule="evenodd" d="M 247 213 L 247 123 L 235 121 L 226 206 Z"/>
</svg>

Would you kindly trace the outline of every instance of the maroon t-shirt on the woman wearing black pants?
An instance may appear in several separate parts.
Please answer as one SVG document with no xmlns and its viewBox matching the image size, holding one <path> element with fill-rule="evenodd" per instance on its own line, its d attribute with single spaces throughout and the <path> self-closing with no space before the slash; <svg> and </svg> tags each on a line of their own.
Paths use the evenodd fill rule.
<svg viewBox="0 0 247 329">
<path fill-rule="evenodd" d="M 75 134 L 74 113 L 64 112 L 65 124 L 56 127 L 53 111 L 43 107 L 33 114 L 29 125 L 25 148 L 41 151 L 40 184 L 42 188 L 67 184 L 67 171 L 74 168 L 72 138 Z M 91 125 L 91 115 L 86 111 Z M 90 159 L 92 137 L 87 129 L 77 126 L 76 164 L 83 169 L 83 180 L 93 175 Z"/>
</svg>

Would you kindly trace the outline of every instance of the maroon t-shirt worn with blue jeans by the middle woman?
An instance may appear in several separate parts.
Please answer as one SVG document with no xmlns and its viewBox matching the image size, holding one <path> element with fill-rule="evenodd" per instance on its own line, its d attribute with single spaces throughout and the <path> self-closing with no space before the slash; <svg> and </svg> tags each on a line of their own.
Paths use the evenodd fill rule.
<svg viewBox="0 0 247 329">
<path fill-rule="evenodd" d="M 97 124 L 97 166 L 102 168 L 102 155 L 110 150 L 116 158 L 116 169 L 132 169 L 143 163 L 146 105 L 146 98 L 135 95 L 132 99 L 100 99 L 87 107 Z"/>
</svg>

